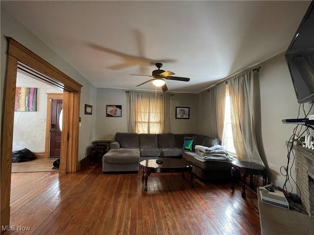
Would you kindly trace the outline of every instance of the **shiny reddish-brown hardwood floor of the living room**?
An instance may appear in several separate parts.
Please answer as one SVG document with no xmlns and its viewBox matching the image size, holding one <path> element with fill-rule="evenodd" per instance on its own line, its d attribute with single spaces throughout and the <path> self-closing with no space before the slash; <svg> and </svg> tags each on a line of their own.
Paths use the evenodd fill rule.
<svg viewBox="0 0 314 235">
<path fill-rule="evenodd" d="M 185 173 L 188 176 L 188 173 Z M 261 234 L 257 195 L 241 184 L 202 183 L 181 173 L 12 173 L 11 221 L 3 235 L 248 235 Z M 12 227 L 15 226 L 15 227 Z M 22 227 L 30 231 L 18 231 Z"/>
</svg>

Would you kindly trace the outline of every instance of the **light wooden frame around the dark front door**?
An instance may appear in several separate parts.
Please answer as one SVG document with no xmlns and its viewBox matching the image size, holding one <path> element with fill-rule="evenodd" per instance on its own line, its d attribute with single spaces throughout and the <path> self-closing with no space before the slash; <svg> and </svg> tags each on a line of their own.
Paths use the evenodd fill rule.
<svg viewBox="0 0 314 235">
<path fill-rule="evenodd" d="M 47 93 L 47 115 L 46 115 L 46 140 L 44 158 L 49 158 L 50 151 L 50 125 L 51 125 L 51 102 L 52 99 L 63 99 L 61 93 Z M 63 101 L 62 101 L 63 103 Z"/>
</svg>

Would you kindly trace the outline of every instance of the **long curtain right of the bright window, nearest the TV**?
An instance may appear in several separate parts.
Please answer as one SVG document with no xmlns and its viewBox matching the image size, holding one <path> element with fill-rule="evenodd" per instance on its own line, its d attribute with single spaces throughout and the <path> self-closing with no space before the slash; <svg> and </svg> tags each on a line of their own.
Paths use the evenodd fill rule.
<svg viewBox="0 0 314 235">
<path fill-rule="evenodd" d="M 238 160 L 263 164 L 253 126 L 253 78 L 252 70 L 228 81 L 232 132 Z"/>
</svg>

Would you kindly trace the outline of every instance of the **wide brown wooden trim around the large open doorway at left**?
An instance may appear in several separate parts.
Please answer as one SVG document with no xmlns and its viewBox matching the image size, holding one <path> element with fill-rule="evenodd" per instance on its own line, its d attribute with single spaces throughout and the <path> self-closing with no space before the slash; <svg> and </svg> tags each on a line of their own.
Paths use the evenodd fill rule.
<svg viewBox="0 0 314 235">
<path fill-rule="evenodd" d="M 77 171 L 78 166 L 78 123 L 79 123 L 79 98 L 80 85 L 78 82 L 59 71 L 47 61 L 34 54 L 32 51 L 7 37 L 7 60 L 4 79 L 4 92 L 1 117 L 1 144 L 0 144 L 0 226 L 10 224 L 10 188 L 11 188 L 11 165 L 12 165 L 12 141 L 14 103 L 16 89 L 16 75 L 18 64 L 22 63 L 29 69 L 40 71 L 44 76 L 39 78 L 54 87 L 62 88 L 63 109 L 62 142 L 60 162 L 60 173 L 72 173 Z M 63 164 L 63 165 L 61 165 Z M 3 227 L 2 227 L 3 226 Z"/>
</svg>

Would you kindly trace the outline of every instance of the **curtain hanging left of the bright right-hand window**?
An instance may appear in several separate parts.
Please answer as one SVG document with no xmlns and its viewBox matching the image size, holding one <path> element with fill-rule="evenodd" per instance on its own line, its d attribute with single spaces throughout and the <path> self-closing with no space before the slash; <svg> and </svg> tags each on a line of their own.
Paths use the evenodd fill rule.
<svg viewBox="0 0 314 235">
<path fill-rule="evenodd" d="M 225 121 L 226 85 L 221 84 L 209 90 L 209 136 L 222 141 Z"/>
</svg>

